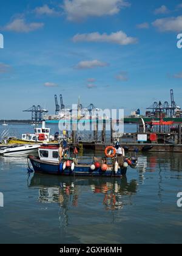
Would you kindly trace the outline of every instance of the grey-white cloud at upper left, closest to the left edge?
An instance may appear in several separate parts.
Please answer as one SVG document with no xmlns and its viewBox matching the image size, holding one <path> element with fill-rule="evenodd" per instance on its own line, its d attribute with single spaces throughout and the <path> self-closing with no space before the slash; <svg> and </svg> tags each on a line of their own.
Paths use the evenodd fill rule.
<svg viewBox="0 0 182 256">
<path fill-rule="evenodd" d="M 25 23 L 23 18 L 13 20 L 11 23 L 2 27 L 2 30 L 15 31 L 15 32 L 30 32 L 41 29 L 44 23 Z"/>
</svg>

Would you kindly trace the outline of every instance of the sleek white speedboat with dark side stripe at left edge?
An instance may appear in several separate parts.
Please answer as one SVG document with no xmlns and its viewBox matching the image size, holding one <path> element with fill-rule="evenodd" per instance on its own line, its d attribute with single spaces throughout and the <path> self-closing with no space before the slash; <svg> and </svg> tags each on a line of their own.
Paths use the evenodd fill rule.
<svg viewBox="0 0 182 256">
<path fill-rule="evenodd" d="M 34 151 L 37 151 L 40 145 L 19 145 L 15 144 L 12 146 L 2 146 L 0 147 L 0 155 L 16 156 L 16 155 L 26 155 Z"/>
</svg>

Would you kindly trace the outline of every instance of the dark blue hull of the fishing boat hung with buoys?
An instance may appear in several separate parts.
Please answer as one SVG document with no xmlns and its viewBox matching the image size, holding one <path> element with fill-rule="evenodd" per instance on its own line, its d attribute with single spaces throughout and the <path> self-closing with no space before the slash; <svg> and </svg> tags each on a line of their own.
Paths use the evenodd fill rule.
<svg viewBox="0 0 182 256">
<path fill-rule="evenodd" d="M 58 163 L 44 162 L 30 155 L 28 158 L 30 159 L 36 173 L 56 174 L 62 176 L 121 177 L 126 175 L 127 172 L 127 168 L 123 168 L 118 169 L 118 172 L 116 173 L 113 171 L 112 166 L 109 166 L 107 171 L 102 171 L 101 168 L 92 171 L 89 165 L 76 165 L 73 171 L 70 168 L 60 170 Z"/>
</svg>

